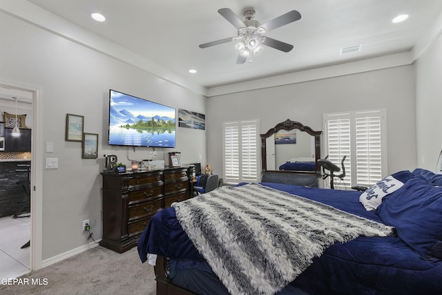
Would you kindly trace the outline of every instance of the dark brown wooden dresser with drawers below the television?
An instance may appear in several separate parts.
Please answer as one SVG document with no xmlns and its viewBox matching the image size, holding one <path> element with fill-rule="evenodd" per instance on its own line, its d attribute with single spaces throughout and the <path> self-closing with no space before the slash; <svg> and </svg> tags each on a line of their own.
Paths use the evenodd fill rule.
<svg viewBox="0 0 442 295">
<path fill-rule="evenodd" d="M 157 211 L 193 196 L 188 166 L 101 174 L 103 238 L 100 245 L 119 253 L 137 245 Z"/>
</svg>

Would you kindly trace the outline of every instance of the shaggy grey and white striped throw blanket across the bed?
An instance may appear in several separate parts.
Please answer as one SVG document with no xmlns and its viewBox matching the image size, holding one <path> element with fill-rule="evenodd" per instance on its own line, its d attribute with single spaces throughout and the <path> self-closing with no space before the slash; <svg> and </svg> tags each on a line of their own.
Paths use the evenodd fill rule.
<svg viewBox="0 0 442 295">
<path fill-rule="evenodd" d="M 173 203 L 195 247 L 231 294 L 274 294 L 334 242 L 394 229 L 261 184 Z"/>
</svg>

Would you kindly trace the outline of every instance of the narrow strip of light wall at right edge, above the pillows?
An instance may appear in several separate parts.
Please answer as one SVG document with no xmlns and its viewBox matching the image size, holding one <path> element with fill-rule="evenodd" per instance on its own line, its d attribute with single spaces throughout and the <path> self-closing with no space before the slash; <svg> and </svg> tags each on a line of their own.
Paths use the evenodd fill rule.
<svg viewBox="0 0 442 295">
<path fill-rule="evenodd" d="M 434 170 L 442 150 L 442 37 L 416 62 L 416 142 L 420 168 Z"/>
</svg>

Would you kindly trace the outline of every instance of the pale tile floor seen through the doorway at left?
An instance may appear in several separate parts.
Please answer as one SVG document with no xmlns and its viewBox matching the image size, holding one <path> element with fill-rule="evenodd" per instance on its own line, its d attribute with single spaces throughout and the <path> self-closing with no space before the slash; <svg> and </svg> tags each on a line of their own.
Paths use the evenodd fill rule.
<svg viewBox="0 0 442 295">
<path fill-rule="evenodd" d="M 0 218 L 0 279 L 30 272 L 30 247 L 21 249 L 29 238 L 30 218 Z"/>
</svg>

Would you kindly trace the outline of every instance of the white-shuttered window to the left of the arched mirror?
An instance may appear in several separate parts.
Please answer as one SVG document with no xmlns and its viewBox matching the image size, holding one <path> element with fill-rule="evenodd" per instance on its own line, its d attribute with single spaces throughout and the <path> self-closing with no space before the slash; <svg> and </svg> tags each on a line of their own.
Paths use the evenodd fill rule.
<svg viewBox="0 0 442 295">
<path fill-rule="evenodd" d="M 224 122 L 224 182 L 258 181 L 259 121 Z"/>
</svg>

